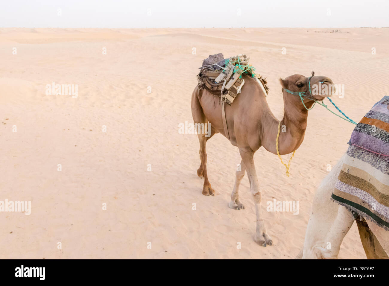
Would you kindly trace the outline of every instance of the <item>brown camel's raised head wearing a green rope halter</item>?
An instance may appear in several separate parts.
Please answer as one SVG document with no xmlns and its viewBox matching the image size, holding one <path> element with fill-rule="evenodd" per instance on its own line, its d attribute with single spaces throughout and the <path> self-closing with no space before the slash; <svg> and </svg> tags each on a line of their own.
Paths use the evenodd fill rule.
<svg viewBox="0 0 389 286">
<path fill-rule="evenodd" d="M 312 72 L 312 76 L 305 77 L 301 74 L 294 74 L 280 79 L 284 92 L 298 95 L 302 93 L 305 101 L 312 100 L 323 100 L 325 97 L 330 97 L 335 93 L 335 85 L 328 77 L 316 76 Z M 298 97 L 299 98 L 299 97 Z M 299 98 L 300 100 L 300 98 Z"/>
</svg>

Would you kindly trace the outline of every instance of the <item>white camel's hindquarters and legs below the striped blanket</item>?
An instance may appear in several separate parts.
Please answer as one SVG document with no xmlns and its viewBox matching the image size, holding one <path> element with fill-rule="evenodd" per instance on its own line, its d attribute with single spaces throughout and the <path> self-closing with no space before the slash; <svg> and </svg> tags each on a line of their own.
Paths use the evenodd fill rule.
<svg viewBox="0 0 389 286">
<path fill-rule="evenodd" d="M 330 199 L 344 160 L 345 155 L 317 189 L 304 247 L 296 259 L 337 259 L 340 244 L 354 221 L 367 258 L 389 259 L 389 232 L 369 220 L 355 219 L 348 209 Z"/>
</svg>

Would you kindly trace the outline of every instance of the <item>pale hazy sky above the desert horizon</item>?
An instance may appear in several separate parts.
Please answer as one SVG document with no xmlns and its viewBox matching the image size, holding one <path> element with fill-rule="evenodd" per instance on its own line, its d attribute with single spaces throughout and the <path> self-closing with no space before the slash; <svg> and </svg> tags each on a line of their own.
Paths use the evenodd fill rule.
<svg viewBox="0 0 389 286">
<path fill-rule="evenodd" d="M 389 26 L 389 0 L 1 0 L 1 2 L 0 27 Z M 220 7 L 213 4 L 217 2 L 221 3 Z M 58 9 L 61 16 L 58 15 Z"/>
</svg>

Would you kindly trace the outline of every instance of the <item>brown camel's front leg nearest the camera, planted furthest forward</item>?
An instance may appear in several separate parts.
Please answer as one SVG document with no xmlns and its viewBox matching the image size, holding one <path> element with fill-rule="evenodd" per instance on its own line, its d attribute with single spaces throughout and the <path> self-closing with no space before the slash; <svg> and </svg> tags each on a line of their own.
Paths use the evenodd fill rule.
<svg viewBox="0 0 389 286">
<path fill-rule="evenodd" d="M 254 152 L 249 148 L 239 148 L 240 156 L 242 157 L 242 161 L 246 167 L 247 175 L 250 181 L 250 191 L 252 198 L 255 204 L 255 213 L 257 216 L 257 227 L 256 227 L 256 235 L 255 242 L 261 246 L 272 245 L 273 241 L 269 235 L 266 233 L 265 223 L 262 217 L 261 211 L 261 192 L 259 191 L 259 182 L 257 178 L 257 173 L 255 171 L 254 166 Z"/>
</svg>

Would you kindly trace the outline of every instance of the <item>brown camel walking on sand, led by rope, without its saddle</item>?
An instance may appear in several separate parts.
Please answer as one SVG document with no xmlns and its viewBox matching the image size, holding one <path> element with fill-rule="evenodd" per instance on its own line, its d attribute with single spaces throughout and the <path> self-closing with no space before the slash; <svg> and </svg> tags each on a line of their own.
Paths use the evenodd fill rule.
<svg viewBox="0 0 389 286">
<path fill-rule="evenodd" d="M 275 118 L 272 111 L 266 102 L 266 91 L 263 86 L 248 75 L 242 75 L 245 80 L 244 87 L 241 93 L 235 98 L 232 105 L 226 104 L 226 121 L 228 133 L 230 134 L 230 142 L 239 149 L 242 161 L 241 168 L 236 172 L 236 181 L 231 193 L 231 202 L 228 205 L 231 209 L 244 209 L 244 205 L 239 200 L 238 189 L 240 181 L 244 177 L 245 171 L 249 176 L 250 191 L 254 200 L 257 225 L 256 235 L 254 240 L 261 246 L 272 245 L 272 239 L 266 233 L 265 224 L 259 204 L 261 203 L 261 191 L 259 182 L 254 167 L 254 153 L 263 146 L 269 152 L 277 154 L 276 137 L 278 133 L 279 120 Z M 314 104 L 310 98 L 323 100 L 324 97 L 329 97 L 329 93 L 315 92 L 311 94 L 308 87 L 310 81 L 311 88 L 316 84 L 319 86 L 327 85 L 329 91 L 333 90 L 333 82 L 328 77 L 312 76 L 310 78 L 303 75 L 295 74 L 280 79 L 282 92 L 284 93 L 284 118 L 281 120 L 285 132 L 280 133 L 279 137 L 279 153 L 289 154 L 296 150 L 303 142 L 305 129 L 307 128 L 308 111 L 304 107 L 299 95 L 287 93 L 285 89 L 294 92 L 305 92 L 309 98 L 305 98 L 304 104 L 309 109 Z M 323 95 L 323 96 L 322 96 Z M 215 98 L 216 96 L 219 99 Z M 217 102 L 219 100 L 219 102 Z M 216 102 L 216 104 L 215 104 Z M 221 133 L 226 138 L 223 128 L 222 110 L 220 104 L 220 93 L 211 93 L 207 89 L 200 90 L 196 86 L 192 93 L 192 116 L 195 123 L 210 123 L 210 136 L 198 134 L 200 141 L 200 160 L 201 165 L 197 170 L 198 176 L 204 177 L 203 195 L 215 195 L 211 184 L 208 181 L 207 174 L 207 153 L 205 145 L 207 140 L 214 134 Z"/>
</svg>

